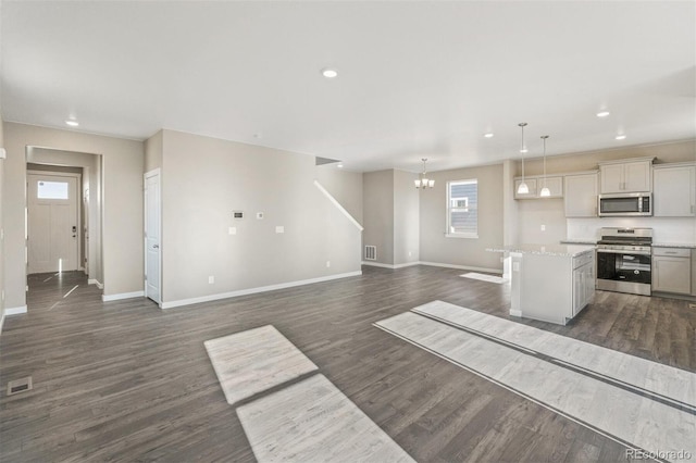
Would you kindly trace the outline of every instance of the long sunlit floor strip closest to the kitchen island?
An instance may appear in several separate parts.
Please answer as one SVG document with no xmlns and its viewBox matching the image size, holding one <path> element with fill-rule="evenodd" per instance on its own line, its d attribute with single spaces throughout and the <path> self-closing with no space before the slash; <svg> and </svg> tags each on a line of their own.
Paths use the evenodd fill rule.
<svg viewBox="0 0 696 463">
<path fill-rule="evenodd" d="M 412 310 L 696 409 L 696 374 L 471 309 L 433 301 Z"/>
</svg>

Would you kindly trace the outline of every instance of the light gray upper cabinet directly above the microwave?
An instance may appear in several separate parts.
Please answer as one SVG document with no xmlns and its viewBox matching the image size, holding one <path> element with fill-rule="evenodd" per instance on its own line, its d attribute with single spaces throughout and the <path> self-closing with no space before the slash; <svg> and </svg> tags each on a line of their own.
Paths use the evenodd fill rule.
<svg viewBox="0 0 696 463">
<path fill-rule="evenodd" d="M 601 193 L 652 191 L 654 159 L 641 158 L 599 163 L 599 191 Z"/>
</svg>

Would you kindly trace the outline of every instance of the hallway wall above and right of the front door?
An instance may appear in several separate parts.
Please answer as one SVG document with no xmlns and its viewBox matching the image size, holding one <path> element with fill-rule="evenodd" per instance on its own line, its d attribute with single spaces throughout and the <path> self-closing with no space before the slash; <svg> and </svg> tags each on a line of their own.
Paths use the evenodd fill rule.
<svg viewBox="0 0 696 463">
<path fill-rule="evenodd" d="M 101 157 L 89 153 L 50 150 L 45 148 L 27 148 L 27 162 L 42 163 L 32 165 L 32 170 L 61 171 L 79 166 L 84 171 L 83 184 L 89 189 L 89 279 L 103 281 L 101 259 Z M 45 165 L 46 164 L 46 165 Z M 83 191 L 84 193 L 84 191 Z M 84 205 L 84 203 L 83 203 Z M 84 212 L 84 211 L 83 211 Z M 84 255 L 84 254 L 83 254 Z"/>
</svg>

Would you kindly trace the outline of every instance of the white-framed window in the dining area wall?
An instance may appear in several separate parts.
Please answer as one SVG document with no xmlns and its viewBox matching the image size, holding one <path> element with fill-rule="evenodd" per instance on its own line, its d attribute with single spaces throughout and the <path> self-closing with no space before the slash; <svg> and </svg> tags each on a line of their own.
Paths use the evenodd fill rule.
<svg viewBox="0 0 696 463">
<path fill-rule="evenodd" d="M 478 180 L 447 183 L 447 236 L 478 238 Z"/>
</svg>

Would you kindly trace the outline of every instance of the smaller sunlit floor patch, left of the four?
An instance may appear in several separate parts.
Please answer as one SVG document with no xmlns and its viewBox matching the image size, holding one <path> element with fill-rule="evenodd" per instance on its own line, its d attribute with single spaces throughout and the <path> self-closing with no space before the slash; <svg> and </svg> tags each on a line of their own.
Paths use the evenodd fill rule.
<svg viewBox="0 0 696 463">
<path fill-rule="evenodd" d="M 316 370 L 271 325 L 203 343 L 229 404 Z"/>
</svg>

